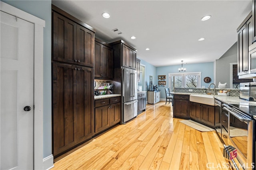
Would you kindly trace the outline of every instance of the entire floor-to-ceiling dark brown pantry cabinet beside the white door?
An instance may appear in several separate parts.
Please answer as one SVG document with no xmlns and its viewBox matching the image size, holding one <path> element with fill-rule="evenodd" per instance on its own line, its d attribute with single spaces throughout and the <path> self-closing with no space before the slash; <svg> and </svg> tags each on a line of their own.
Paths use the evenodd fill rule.
<svg viewBox="0 0 256 170">
<path fill-rule="evenodd" d="M 95 29 L 52 5 L 52 153 L 94 136 Z"/>
</svg>

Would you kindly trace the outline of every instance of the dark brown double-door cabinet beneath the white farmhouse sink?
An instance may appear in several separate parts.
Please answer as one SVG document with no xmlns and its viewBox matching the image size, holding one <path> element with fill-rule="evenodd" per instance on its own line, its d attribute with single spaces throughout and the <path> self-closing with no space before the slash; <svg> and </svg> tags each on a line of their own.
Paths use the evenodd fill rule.
<svg viewBox="0 0 256 170">
<path fill-rule="evenodd" d="M 190 102 L 190 117 L 201 123 L 214 127 L 215 125 L 215 106 Z M 220 118 L 218 118 L 220 123 Z"/>
</svg>

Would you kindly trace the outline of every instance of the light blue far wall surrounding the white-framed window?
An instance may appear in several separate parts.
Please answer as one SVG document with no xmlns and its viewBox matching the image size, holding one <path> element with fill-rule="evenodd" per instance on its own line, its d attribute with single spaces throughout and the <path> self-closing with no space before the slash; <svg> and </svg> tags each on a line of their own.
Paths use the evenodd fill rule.
<svg viewBox="0 0 256 170">
<path fill-rule="evenodd" d="M 156 67 L 156 76 L 154 76 L 154 84 L 158 84 L 158 75 L 166 75 L 166 86 L 159 86 L 158 89 L 161 90 L 161 98 L 166 98 L 165 96 L 165 90 L 164 88 L 168 88 L 168 74 L 169 73 L 189 73 L 189 72 L 202 72 L 201 74 L 201 87 L 205 86 L 208 88 L 210 83 L 214 83 L 214 62 L 210 63 L 196 63 L 196 64 L 183 64 L 183 67 L 186 68 L 186 72 L 179 72 L 178 68 L 181 67 L 180 65 L 174 65 L 174 66 L 161 66 Z M 212 80 L 210 83 L 204 82 L 204 77 L 210 77 Z"/>
</svg>

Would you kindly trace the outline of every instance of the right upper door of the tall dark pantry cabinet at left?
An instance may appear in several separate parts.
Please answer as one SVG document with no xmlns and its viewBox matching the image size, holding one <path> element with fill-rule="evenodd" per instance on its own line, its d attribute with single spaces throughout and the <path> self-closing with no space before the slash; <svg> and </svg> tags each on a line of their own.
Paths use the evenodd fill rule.
<svg viewBox="0 0 256 170">
<path fill-rule="evenodd" d="M 83 66 L 94 66 L 94 32 L 77 25 L 76 61 Z"/>
</svg>

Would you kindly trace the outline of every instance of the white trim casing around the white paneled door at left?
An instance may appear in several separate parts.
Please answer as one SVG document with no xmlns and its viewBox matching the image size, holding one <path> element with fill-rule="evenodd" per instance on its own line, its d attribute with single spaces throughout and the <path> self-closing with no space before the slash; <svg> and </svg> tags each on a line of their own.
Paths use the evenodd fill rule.
<svg viewBox="0 0 256 170">
<path fill-rule="evenodd" d="M 34 24 L 34 169 L 43 166 L 43 44 L 45 21 L 0 1 L 1 11 Z M 48 158 L 48 157 L 47 157 Z M 53 159 L 47 159 L 53 166 Z"/>
</svg>

